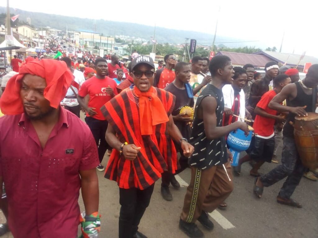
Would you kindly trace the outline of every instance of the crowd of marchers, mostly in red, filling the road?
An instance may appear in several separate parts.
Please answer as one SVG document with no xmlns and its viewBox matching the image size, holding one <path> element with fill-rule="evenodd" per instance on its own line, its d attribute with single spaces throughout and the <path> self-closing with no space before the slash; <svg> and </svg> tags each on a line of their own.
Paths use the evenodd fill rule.
<svg viewBox="0 0 318 238">
<path fill-rule="evenodd" d="M 147 237 L 139 223 L 155 182 L 161 177 L 162 198 L 171 201 L 169 186 L 179 189 L 175 175 L 187 168 L 191 178 L 179 228 L 189 237 L 203 237 L 196 221 L 214 228 L 208 213 L 226 208 L 233 173 L 241 175 L 244 162 L 252 165 L 257 198 L 287 177 L 277 202 L 302 207 L 291 196 L 301 177 L 314 179 L 317 170 L 302 165 L 288 122 L 315 112 L 318 64 L 300 80 L 297 69 L 274 61 L 261 77 L 252 64 L 233 67 L 227 56 L 195 56 L 185 63 L 169 54 L 158 69 L 137 52 L 128 66 L 116 55 L 109 60 L 31 57 L 3 77 L 0 183 L 8 224 L 0 234 L 10 229 L 16 238 L 76 237 L 80 221 L 80 237 L 97 237 L 96 170 L 118 184 L 120 238 Z M 248 135 L 251 127 L 246 155 L 232 166 L 227 137 L 236 130 Z M 260 175 L 265 162 L 279 163 L 281 142 L 280 164 Z"/>
</svg>

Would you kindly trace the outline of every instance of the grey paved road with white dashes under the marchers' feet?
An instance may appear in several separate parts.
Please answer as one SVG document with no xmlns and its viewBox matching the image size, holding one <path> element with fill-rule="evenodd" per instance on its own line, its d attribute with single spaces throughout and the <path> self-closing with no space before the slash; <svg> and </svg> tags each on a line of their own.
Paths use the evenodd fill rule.
<svg viewBox="0 0 318 238">
<path fill-rule="evenodd" d="M 104 165 L 107 160 L 108 156 L 105 156 Z M 276 164 L 266 163 L 260 172 L 266 173 L 275 166 Z M 249 175 L 249 170 L 248 163 L 242 166 L 242 174 L 240 177 L 234 177 L 234 191 L 226 200 L 228 208 L 225 211 L 218 210 L 220 215 L 213 214 L 223 227 L 226 228 L 226 224 L 230 223 L 234 228 L 225 229 L 212 219 L 215 228 L 209 232 L 198 224 L 206 238 L 318 238 L 318 182 L 302 178 L 293 198 L 300 201 L 303 208 L 291 208 L 276 202 L 276 196 L 283 181 L 265 188 L 262 198 L 256 198 L 252 193 L 253 177 Z M 102 230 L 99 237 L 117 238 L 120 209 L 118 187 L 115 182 L 103 178 L 103 172 L 98 172 L 98 176 L 100 214 L 102 214 Z M 180 178 L 189 183 L 190 169 L 183 171 Z M 149 238 L 186 238 L 187 236 L 178 228 L 185 190 L 186 187 L 182 187 L 180 190 L 171 188 L 173 201 L 167 202 L 160 195 L 160 181 L 158 181 L 150 206 L 142 218 L 140 231 Z M 79 204 L 83 210 L 81 197 Z M 0 222 L 2 221 L 3 215 L 1 214 Z M 12 235 L 3 237 L 12 237 Z"/>
</svg>

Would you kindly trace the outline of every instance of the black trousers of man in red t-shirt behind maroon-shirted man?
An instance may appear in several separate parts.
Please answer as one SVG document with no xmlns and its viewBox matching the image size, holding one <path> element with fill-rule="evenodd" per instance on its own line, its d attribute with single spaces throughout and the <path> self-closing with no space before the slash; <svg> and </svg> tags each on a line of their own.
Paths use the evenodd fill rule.
<svg viewBox="0 0 318 238">
<path fill-rule="evenodd" d="M 105 139 L 108 122 L 106 120 L 101 121 L 101 120 L 95 119 L 91 116 L 86 116 L 85 122 L 88 125 L 89 129 L 91 129 L 92 134 L 94 136 L 96 145 L 98 147 L 98 157 L 101 163 L 104 158 L 106 150 L 111 149 Z"/>
</svg>

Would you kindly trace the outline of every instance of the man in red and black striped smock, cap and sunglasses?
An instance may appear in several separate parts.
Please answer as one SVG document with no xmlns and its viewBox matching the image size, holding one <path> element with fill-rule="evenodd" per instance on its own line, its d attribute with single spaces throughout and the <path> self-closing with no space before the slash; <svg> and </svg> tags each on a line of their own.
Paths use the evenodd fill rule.
<svg viewBox="0 0 318 238">
<path fill-rule="evenodd" d="M 185 156 L 193 152 L 193 146 L 173 123 L 175 97 L 152 87 L 153 60 L 149 56 L 136 57 L 132 76 L 135 86 L 101 108 L 108 121 L 106 140 L 114 148 L 105 178 L 119 186 L 119 238 L 146 237 L 138 232 L 138 225 L 149 205 L 154 184 L 164 171 L 175 173 L 177 169 L 172 139 L 181 144 Z"/>
</svg>

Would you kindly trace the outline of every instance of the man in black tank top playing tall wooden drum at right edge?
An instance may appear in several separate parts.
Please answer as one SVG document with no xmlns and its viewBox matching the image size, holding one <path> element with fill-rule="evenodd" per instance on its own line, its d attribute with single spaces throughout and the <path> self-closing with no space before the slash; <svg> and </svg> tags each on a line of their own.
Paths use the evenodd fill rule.
<svg viewBox="0 0 318 238">
<path fill-rule="evenodd" d="M 283 129 L 282 164 L 255 180 L 254 194 L 257 197 L 261 197 L 263 187 L 269 187 L 287 177 L 277 196 L 277 202 L 301 208 L 301 204 L 290 197 L 299 184 L 306 168 L 302 165 L 296 150 L 294 128 L 288 122 L 294 122 L 296 115 L 307 116 L 307 112 L 315 112 L 317 85 L 318 64 L 314 64 L 308 69 L 306 78 L 303 81 L 285 86 L 269 103 L 268 107 L 281 112 L 289 112 L 289 116 Z M 287 100 L 287 106 L 282 106 L 280 103 L 285 99 Z"/>
</svg>

